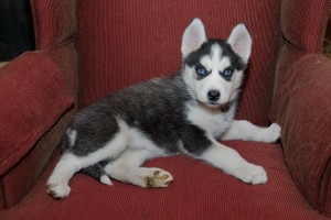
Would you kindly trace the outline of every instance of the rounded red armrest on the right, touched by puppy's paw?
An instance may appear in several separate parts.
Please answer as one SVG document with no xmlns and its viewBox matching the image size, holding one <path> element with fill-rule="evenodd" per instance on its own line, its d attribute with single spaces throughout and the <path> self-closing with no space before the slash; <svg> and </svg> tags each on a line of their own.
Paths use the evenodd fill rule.
<svg viewBox="0 0 331 220">
<path fill-rule="evenodd" d="M 306 54 L 276 88 L 270 120 L 281 125 L 286 162 L 311 206 L 331 213 L 331 61 Z"/>
</svg>

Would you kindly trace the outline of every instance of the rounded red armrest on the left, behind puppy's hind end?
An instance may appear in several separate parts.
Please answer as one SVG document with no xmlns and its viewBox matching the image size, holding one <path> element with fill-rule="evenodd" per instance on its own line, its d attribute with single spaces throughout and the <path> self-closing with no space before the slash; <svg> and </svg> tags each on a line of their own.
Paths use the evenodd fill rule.
<svg viewBox="0 0 331 220">
<path fill-rule="evenodd" d="M 29 52 L 0 69 L 0 175 L 18 163 L 74 103 L 58 67 Z"/>
</svg>

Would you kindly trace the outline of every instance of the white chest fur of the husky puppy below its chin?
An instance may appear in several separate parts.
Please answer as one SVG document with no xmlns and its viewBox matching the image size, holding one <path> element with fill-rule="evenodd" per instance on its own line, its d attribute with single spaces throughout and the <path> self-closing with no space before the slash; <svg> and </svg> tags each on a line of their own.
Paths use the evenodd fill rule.
<svg viewBox="0 0 331 220">
<path fill-rule="evenodd" d="M 188 119 L 191 123 L 204 130 L 207 135 L 217 139 L 229 128 L 234 111 L 234 107 L 227 112 L 220 112 L 218 109 L 189 105 Z"/>
</svg>

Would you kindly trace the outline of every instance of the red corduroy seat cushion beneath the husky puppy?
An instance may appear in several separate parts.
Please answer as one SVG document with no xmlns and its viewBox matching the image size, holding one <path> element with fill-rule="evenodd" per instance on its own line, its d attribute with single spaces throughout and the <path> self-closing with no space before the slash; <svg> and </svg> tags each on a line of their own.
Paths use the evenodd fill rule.
<svg viewBox="0 0 331 220">
<path fill-rule="evenodd" d="M 157 158 L 149 167 L 169 170 L 174 182 L 164 189 L 142 189 L 114 182 L 105 186 L 77 174 L 64 200 L 45 194 L 55 157 L 38 186 L 1 219 L 325 219 L 311 209 L 296 188 L 277 144 L 224 142 L 248 161 L 263 165 L 267 185 L 252 186 L 185 156 Z"/>
</svg>

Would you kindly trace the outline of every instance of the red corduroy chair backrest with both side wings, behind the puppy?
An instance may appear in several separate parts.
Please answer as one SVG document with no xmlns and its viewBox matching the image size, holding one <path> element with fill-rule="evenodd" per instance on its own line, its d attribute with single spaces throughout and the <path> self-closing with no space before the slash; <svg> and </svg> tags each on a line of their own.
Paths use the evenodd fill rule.
<svg viewBox="0 0 331 220">
<path fill-rule="evenodd" d="M 235 24 L 246 23 L 253 36 L 253 52 L 237 118 L 260 125 L 268 123 L 273 90 L 292 61 L 300 52 L 321 53 L 330 12 L 330 0 L 31 0 L 31 3 L 38 50 L 57 48 L 58 53 L 52 54 L 55 62 L 61 66 L 75 64 L 70 44 L 76 40 L 81 107 L 108 92 L 178 70 L 181 36 L 194 16 L 203 20 L 210 37 L 227 37 Z M 56 57 L 66 51 L 66 56 Z M 75 73 L 70 76 L 71 69 L 63 69 L 75 92 Z"/>
</svg>

